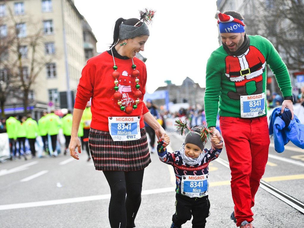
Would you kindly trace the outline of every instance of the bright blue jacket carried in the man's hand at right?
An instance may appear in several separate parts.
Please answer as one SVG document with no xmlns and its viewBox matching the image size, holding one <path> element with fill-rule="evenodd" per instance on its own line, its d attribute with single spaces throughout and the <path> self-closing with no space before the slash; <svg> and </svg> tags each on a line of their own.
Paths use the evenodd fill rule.
<svg viewBox="0 0 304 228">
<path fill-rule="evenodd" d="M 275 151 L 282 153 L 284 146 L 289 140 L 297 147 L 304 149 L 304 124 L 300 123 L 297 116 L 292 114 L 289 109 L 281 114 L 281 107 L 273 110 L 269 123 L 269 134 L 273 134 Z"/>
</svg>

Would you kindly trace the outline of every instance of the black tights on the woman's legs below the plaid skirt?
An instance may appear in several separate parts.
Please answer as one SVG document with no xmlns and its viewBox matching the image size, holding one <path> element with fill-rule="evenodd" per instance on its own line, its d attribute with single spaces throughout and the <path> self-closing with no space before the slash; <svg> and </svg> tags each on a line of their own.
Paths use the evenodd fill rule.
<svg viewBox="0 0 304 228">
<path fill-rule="evenodd" d="M 134 220 L 141 203 L 143 169 L 138 171 L 103 171 L 111 199 L 109 222 L 111 228 L 134 227 Z"/>
</svg>

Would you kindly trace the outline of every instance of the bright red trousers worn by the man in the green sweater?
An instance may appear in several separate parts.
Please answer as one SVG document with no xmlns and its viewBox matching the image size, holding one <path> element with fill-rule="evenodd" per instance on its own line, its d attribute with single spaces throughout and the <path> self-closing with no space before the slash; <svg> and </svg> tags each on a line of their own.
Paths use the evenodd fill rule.
<svg viewBox="0 0 304 228">
<path fill-rule="evenodd" d="M 231 169 L 231 193 L 237 226 L 252 222 L 254 196 L 268 160 L 267 117 L 220 117 L 220 129 Z"/>
</svg>

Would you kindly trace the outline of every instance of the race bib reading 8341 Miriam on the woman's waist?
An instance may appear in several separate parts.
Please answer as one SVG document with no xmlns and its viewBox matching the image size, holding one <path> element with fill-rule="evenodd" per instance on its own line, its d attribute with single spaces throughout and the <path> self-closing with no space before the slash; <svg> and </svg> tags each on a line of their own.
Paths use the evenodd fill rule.
<svg viewBox="0 0 304 228">
<path fill-rule="evenodd" d="M 109 132 L 113 141 L 140 139 L 140 116 L 113 116 L 109 119 Z"/>
</svg>

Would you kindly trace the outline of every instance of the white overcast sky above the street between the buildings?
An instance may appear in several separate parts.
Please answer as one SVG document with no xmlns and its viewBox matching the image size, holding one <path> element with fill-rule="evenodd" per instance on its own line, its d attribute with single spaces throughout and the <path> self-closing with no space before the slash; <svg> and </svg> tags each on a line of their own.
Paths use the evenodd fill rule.
<svg viewBox="0 0 304 228">
<path fill-rule="evenodd" d="M 139 18 L 139 10 L 155 10 L 153 22 L 148 25 L 150 37 L 145 50 L 140 52 L 147 58 L 147 92 L 165 86 L 166 80 L 181 85 L 187 76 L 205 87 L 206 62 L 219 47 L 214 18 L 216 0 L 74 0 L 74 3 L 92 27 L 98 52 L 109 50 L 118 18 Z"/>
</svg>

